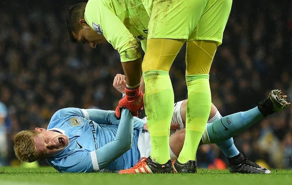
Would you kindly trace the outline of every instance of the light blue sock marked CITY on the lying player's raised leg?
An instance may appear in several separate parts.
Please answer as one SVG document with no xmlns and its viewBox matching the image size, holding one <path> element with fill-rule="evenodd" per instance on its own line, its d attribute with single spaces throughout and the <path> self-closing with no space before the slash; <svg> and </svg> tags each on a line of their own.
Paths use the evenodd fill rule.
<svg viewBox="0 0 292 185">
<path fill-rule="evenodd" d="M 214 121 L 214 123 L 207 124 L 208 139 L 211 143 L 221 145 L 223 141 L 230 139 L 262 118 L 264 116 L 260 113 L 258 107 L 225 116 Z M 233 139 L 230 142 L 233 143 Z M 229 144 L 229 146 L 232 147 L 232 144 Z"/>
</svg>

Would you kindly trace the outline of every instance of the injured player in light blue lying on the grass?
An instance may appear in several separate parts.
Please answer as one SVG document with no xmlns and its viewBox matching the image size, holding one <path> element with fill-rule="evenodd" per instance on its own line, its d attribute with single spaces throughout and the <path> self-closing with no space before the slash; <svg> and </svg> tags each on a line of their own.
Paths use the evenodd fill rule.
<svg viewBox="0 0 292 185">
<path fill-rule="evenodd" d="M 176 131 L 170 132 L 169 138 L 172 160 L 177 158 L 184 142 L 185 101 L 177 102 L 174 108 L 171 130 Z M 222 118 L 216 109 L 215 115 L 208 121 L 200 145 L 216 143 L 220 146 L 220 143 L 269 114 L 285 109 L 289 104 L 280 90 L 272 90 L 267 99 L 248 111 Z M 122 110 L 121 119 L 118 120 L 114 111 L 65 108 L 53 114 L 47 129 L 19 132 L 15 136 L 14 151 L 21 161 L 46 159 L 59 172 L 121 170 L 120 173 L 124 173 L 123 169 L 133 167 L 139 158 L 143 163 L 150 156 L 150 135 L 147 130 L 146 118 L 133 117 L 128 109 Z M 222 147 L 228 149 L 232 146 Z M 235 156 L 228 158 L 230 172 L 270 173 L 270 170 L 236 151 L 233 150 Z M 133 173 L 149 172 L 144 168 L 132 170 Z"/>
</svg>

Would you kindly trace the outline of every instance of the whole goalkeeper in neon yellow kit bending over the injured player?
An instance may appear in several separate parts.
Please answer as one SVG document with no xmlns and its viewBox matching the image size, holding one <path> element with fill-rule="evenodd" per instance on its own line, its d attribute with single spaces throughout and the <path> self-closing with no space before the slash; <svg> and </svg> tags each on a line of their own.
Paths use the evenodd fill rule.
<svg viewBox="0 0 292 185">
<path fill-rule="evenodd" d="M 142 40 L 145 50 L 147 38 L 142 75 L 152 150 L 150 157 L 129 173 L 141 167 L 146 172 L 173 172 L 168 136 L 174 95 L 168 72 L 185 42 L 189 101 L 185 142 L 174 171 L 196 172 L 197 147 L 211 110 L 209 71 L 222 42 L 231 4 L 232 0 L 89 0 L 75 7 L 75 11 L 70 8 L 67 28 L 71 41 L 88 43 L 93 48 L 108 41 L 120 53 L 127 88 L 116 109 L 118 117 L 121 107 L 128 108 L 133 115 L 142 107 L 137 41 Z M 80 18 L 77 12 L 84 17 Z"/>
</svg>

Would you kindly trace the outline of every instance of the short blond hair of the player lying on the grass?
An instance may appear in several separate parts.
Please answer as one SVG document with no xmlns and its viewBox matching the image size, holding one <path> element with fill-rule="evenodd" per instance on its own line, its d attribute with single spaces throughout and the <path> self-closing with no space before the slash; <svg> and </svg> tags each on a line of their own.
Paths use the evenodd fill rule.
<svg viewBox="0 0 292 185">
<path fill-rule="evenodd" d="M 34 139 L 39 133 L 36 130 L 23 130 L 16 134 L 14 151 L 19 160 L 32 163 L 39 159 Z"/>
</svg>

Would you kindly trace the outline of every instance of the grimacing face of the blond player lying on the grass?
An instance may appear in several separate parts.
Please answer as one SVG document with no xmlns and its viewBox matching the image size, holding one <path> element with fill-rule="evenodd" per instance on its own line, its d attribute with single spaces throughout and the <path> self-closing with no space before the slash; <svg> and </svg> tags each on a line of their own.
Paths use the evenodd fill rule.
<svg viewBox="0 0 292 185">
<path fill-rule="evenodd" d="M 39 135 L 35 138 L 36 151 L 41 159 L 46 159 L 62 151 L 69 144 L 69 138 L 60 132 L 35 128 Z"/>
</svg>

